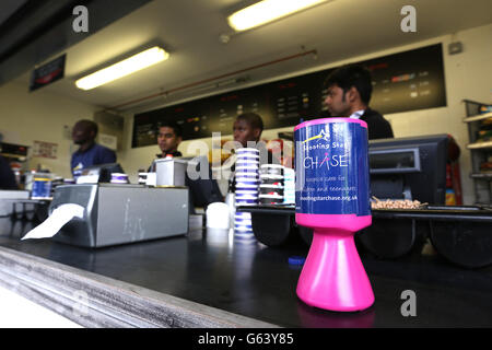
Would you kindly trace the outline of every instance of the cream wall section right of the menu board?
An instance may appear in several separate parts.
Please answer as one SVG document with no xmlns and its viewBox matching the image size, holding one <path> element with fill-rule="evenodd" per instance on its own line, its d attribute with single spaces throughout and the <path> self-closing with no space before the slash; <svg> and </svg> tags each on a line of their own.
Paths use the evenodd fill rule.
<svg viewBox="0 0 492 350">
<path fill-rule="evenodd" d="M 464 44 L 464 52 L 448 55 L 447 45 L 454 40 Z M 442 37 L 447 93 L 447 107 L 387 115 L 396 137 L 449 133 L 458 142 L 461 155 L 461 185 L 464 201 L 475 201 L 470 152 L 462 100 L 492 103 L 492 25 L 458 32 Z"/>
</svg>

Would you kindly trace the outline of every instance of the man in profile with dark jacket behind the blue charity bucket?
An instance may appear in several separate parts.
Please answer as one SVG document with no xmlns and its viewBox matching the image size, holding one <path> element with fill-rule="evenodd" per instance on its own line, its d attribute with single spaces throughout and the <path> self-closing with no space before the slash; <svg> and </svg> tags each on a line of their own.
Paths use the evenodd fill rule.
<svg viewBox="0 0 492 350">
<path fill-rule="evenodd" d="M 368 107 L 373 85 L 371 72 L 359 65 L 338 68 L 325 81 L 325 103 L 332 117 L 356 118 L 367 122 L 368 139 L 393 138 L 391 125 Z"/>
</svg>

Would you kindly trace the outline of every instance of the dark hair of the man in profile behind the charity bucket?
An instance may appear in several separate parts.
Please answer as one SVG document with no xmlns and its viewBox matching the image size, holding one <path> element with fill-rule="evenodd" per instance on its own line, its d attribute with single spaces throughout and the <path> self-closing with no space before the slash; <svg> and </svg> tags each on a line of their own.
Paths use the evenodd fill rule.
<svg viewBox="0 0 492 350">
<path fill-rule="evenodd" d="M 325 80 L 325 88 L 338 85 L 347 93 L 350 88 L 355 86 L 364 104 L 368 105 L 373 93 L 371 72 L 360 65 L 347 65 L 336 69 Z"/>
</svg>

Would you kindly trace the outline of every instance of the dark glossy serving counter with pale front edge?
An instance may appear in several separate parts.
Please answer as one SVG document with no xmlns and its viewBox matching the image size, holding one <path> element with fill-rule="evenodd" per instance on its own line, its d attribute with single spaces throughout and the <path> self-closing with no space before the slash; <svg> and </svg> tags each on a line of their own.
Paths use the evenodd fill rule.
<svg viewBox="0 0 492 350">
<path fill-rule="evenodd" d="M 35 224 L 35 223 L 34 223 Z M 359 313 L 309 307 L 295 295 L 308 247 L 269 248 L 213 231 L 86 249 L 20 241 L 32 222 L 0 219 L 0 283 L 85 326 L 108 327 L 490 327 L 492 269 L 440 256 L 361 256 L 375 304 Z M 403 316 L 403 291 L 417 316 Z"/>
</svg>

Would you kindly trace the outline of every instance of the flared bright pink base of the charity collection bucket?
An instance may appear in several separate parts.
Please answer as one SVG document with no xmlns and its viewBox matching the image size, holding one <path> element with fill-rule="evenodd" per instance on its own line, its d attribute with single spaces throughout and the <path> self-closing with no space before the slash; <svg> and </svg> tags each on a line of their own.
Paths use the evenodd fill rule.
<svg viewBox="0 0 492 350">
<path fill-rule="evenodd" d="M 304 303 L 329 311 L 355 312 L 373 305 L 373 289 L 353 232 L 314 232 L 296 293 Z"/>
</svg>

